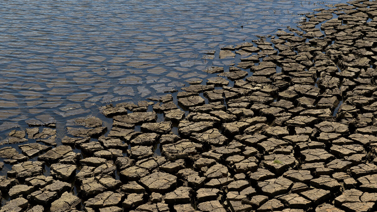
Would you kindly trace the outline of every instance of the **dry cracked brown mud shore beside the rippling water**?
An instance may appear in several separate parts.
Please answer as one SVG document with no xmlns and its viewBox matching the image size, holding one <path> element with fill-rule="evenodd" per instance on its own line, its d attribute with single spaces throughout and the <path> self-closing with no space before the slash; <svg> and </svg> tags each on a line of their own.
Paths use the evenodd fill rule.
<svg viewBox="0 0 377 212">
<path fill-rule="evenodd" d="M 222 48 L 244 57 L 206 85 L 101 107 L 109 132 L 10 132 L 0 212 L 376 211 L 377 2 L 348 3 Z"/>
</svg>

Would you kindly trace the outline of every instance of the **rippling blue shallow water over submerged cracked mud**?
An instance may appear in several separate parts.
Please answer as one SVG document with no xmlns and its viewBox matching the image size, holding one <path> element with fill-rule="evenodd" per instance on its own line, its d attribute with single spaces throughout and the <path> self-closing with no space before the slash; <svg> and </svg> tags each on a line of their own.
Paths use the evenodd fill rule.
<svg viewBox="0 0 377 212">
<path fill-rule="evenodd" d="M 298 0 L 4 0 L 0 3 L 0 138 L 9 126 L 98 114 L 144 100 L 227 66 L 219 48 L 256 39 L 326 4 Z M 344 0 L 343 0 L 344 2 Z M 201 59 L 215 50 L 214 59 Z M 235 59 L 239 59 L 239 55 Z M 186 83 L 187 84 L 187 83 Z"/>
</svg>

